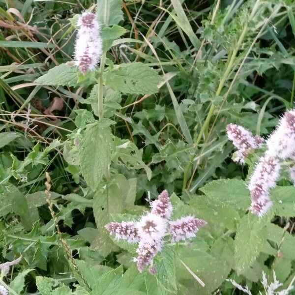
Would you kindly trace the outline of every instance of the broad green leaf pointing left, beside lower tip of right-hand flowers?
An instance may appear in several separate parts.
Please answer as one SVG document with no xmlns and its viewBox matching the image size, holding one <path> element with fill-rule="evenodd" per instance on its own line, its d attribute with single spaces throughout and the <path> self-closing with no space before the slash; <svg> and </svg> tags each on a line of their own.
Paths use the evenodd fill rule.
<svg viewBox="0 0 295 295">
<path fill-rule="evenodd" d="M 207 183 L 200 190 L 222 203 L 246 210 L 250 205 L 250 193 L 245 181 L 240 179 L 218 179 Z"/>
</svg>

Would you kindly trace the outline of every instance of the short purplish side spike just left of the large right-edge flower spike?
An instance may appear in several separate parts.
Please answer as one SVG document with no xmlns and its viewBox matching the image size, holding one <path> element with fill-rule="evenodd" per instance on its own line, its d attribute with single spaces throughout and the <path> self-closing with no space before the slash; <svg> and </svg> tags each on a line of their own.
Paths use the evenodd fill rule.
<svg viewBox="0 0 295 295">
<path fill-rule="evenodd" d="M 259 135 L 253 136 L 252 133 L 239 125 L 228 124 L 226 127 L 228 138 L 233 142 L 237 148 L 237 157 L 235 162 L 245 163 L 245 158 L 252 149 L 261 148 L 264 139 Z"/>
</svg>

